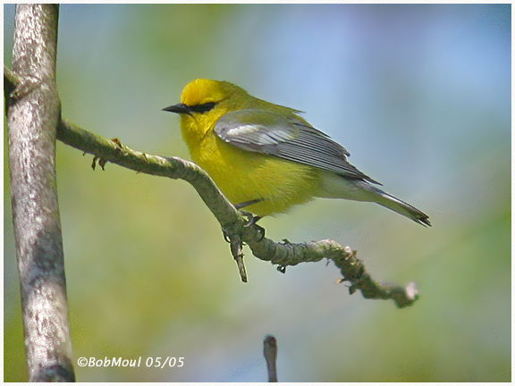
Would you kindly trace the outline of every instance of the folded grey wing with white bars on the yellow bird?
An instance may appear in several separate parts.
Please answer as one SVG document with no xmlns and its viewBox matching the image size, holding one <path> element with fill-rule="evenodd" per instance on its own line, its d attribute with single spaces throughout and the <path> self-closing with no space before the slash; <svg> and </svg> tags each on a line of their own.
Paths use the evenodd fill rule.
<svg viewBox="0 0 515 386">
<path fill-rule="evenodd" d="M 243 150 L 378 183 L 347 162 L 350 154 L 344 147 L 293 114 L 258 109 L 226 113 L 215 123 L 215 133 Z"/>
</svg>

